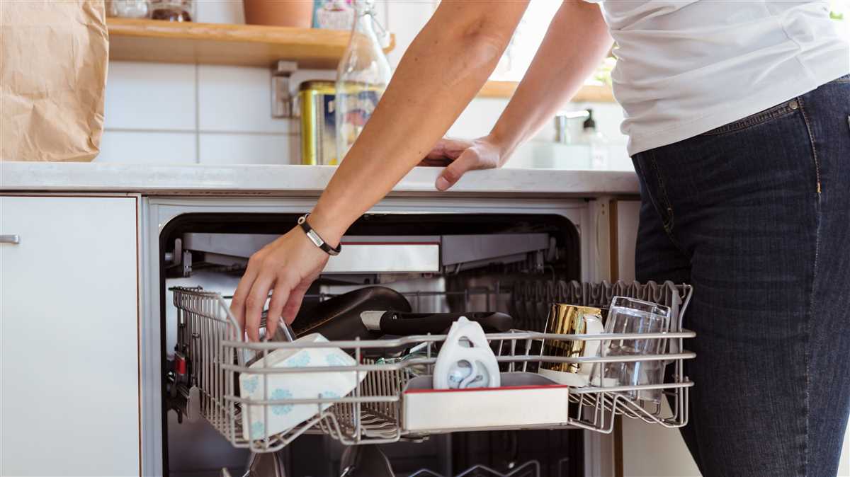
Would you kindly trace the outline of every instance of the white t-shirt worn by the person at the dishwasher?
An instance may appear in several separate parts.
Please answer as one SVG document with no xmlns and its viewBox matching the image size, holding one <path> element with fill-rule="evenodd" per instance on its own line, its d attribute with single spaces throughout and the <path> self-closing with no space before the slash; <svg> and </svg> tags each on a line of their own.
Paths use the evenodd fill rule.
<svg viewBox="0 0 850 477">
<path fill-rule="evenodd" d="M 594 0 L 589 0 L 594 1 Z M 829 3 L 595 0 L 617 42 L 614 96 L 636 154 L 737 121 L 850 73 Z"/>
</svg>

